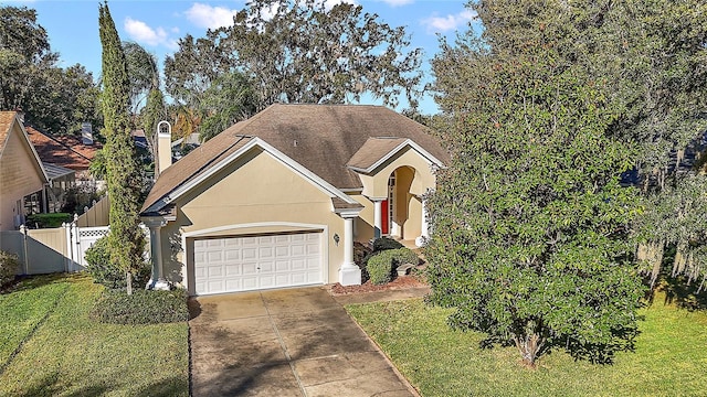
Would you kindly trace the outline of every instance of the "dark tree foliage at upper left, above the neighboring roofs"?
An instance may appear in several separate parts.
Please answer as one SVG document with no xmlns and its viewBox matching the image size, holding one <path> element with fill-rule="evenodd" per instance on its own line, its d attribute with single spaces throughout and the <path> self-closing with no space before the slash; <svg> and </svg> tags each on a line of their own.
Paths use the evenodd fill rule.
<svg viewBox="0 0 707 397">
<path fill-rule="evenodd" d="M 0 108 L 21 108 L 29 124 L 52 133 L 77 133 L 82 122 L 101 125 L 92 74 L 78 64 L 57 66 L 36 12 L 0 7 Z"/>
</svg>

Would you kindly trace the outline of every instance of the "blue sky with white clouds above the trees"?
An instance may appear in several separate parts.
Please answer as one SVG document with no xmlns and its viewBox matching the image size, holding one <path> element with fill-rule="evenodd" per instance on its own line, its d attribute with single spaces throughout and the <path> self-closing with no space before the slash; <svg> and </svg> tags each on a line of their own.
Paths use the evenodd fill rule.
<svg viewBox="0 0 707 397">
<path fill-rule="evenodd" d="M 38 12 L 38 22 L 48 32 L 52 51 L 59 52 L 61 66 L 76 63 L 101 74 L 101 41 L 98 39 L 98 4 L 103 0 L 13 0 L 1 6 L 28 7 Z M 437 35 L 453 39 L 456 31 L 466 31 L 475 23 L 475 14 L 465 8 L 465 0 L 321 0 L 327 6 L 338 2 L 360 4 L 365 12 L 377 13 L 380 21 L 392 26 L 405 26 L 411 47 L 424 51 L 423 71 L 431 82 L 430 60 L 439 52 Z M 120 39 L 134 41 L 155 54 L 160 68 L 165 56 L 177 50 L 180 37 L 205 35 L 208 29 L 229 25 L 232 15 L 245 6 L 245 0 L 110 0 L 108 7 Z M 363 104 L 376 104 L 363 98 Z M 400 109 L 399 109 L 400 110 Z M 423 114 L 439 111 L 426 95 L 421 100 Z"/>
</svg>

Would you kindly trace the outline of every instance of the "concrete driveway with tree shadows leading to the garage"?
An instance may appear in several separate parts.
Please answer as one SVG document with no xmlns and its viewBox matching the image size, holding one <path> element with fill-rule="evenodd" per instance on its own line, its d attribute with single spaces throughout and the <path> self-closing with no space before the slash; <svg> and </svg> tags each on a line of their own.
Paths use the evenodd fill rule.
<svg viewBox="0 0 707 397">
<path fill-rule="evenodd" d="M 190 302 L 193 396 L 416 396 L 323 288 Z"/>
</svg>

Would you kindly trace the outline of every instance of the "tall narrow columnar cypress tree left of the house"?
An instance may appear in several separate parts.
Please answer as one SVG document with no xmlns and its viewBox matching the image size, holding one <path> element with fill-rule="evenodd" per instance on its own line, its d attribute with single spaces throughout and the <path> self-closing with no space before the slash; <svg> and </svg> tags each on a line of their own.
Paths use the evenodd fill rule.
<svg viewBox="0 0 707 397">
<path fill-rule="evenodd" d="M 133 272 L 143 262 L 145 248 L 145 236 L 139 227 L 141 175 L 130 135 L 127 62 L 107 2 L 98 6 L 98 26 L 103 47 L 102 106 L 110 198 L 110 260 L 125 271 L 127 293 L 131 294 Z"/>
</svg>

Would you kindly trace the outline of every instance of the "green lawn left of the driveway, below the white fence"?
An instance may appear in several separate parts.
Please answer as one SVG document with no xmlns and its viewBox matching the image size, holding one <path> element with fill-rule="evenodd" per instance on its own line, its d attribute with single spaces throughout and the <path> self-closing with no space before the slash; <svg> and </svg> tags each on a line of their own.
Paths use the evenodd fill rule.
<svg viewBox="0 0 707 397">
<path fill-rule="evenodd" d="M 98 323 L 102 288 L 45 276 L 0 296 L 0 396 L 189 395 L 187 323 Z"/>
</svg>

